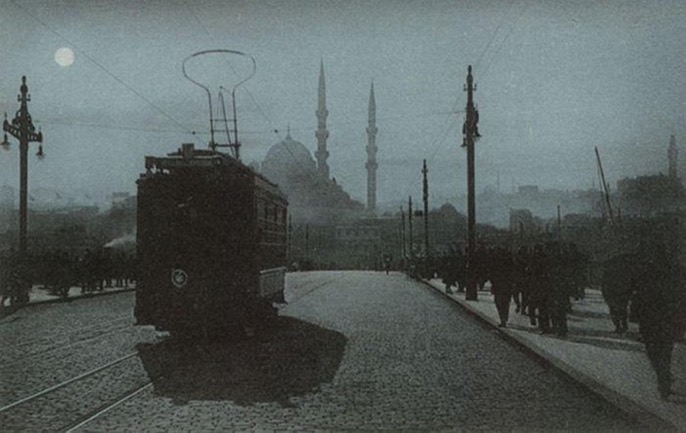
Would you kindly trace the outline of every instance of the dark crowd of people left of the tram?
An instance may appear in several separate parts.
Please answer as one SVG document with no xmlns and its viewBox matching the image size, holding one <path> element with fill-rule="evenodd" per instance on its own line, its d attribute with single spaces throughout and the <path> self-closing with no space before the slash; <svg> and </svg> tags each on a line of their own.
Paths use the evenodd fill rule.
<svg viewBox="0 0 686 433">
<path fill-rule="evenodd" d="M 128 287 L 135 280 L 135 257 L 110 248 L 82 254 L 51 249 L 23 256 L 10 250 L 0 255 L 0 306 L 28 302 L 31 287 L 39 286 L 63 298 L 72 287 L 82 293 Z"/>
</svg>

